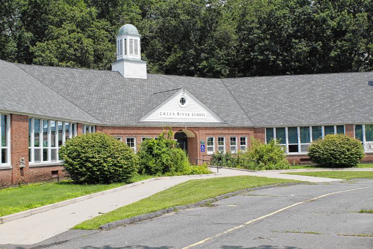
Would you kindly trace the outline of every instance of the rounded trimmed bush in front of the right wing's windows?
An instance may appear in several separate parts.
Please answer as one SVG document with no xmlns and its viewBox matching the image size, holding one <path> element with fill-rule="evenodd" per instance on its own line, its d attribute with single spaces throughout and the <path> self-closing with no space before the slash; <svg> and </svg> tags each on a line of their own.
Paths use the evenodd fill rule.
<svg viewBox="0 0 373 249">
<path fill-rule="evenodd" d="M 361 142 L 343 134 L 329 134 L 312 142 L 308 148 L 312 162 L 320 166 L 353 167 L 364 157 Z"/>
</svg>

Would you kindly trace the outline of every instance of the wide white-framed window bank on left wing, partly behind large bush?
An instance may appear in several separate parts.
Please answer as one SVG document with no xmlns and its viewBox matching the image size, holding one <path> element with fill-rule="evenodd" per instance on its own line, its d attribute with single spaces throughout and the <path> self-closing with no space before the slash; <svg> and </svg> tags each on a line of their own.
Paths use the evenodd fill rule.
<svg viewBox="0 0 373 249">
<path fill-rule="evenodd" d="M 28 161 L 31 164 L 58 162 L 59 148 L 76 135 L 76 123 L 29 118 Z"/>
</svg>

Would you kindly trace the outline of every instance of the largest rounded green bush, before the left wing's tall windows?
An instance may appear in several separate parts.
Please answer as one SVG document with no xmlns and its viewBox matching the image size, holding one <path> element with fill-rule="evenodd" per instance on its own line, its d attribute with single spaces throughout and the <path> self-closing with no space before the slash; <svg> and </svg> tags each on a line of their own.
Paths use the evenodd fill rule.
<svg viewBox="0 0 373 249">
<path fill-rule="evenodd" d="M 137 157 L 132 149 L 102 132 L 67 140 L 59 155 L 65 170 L 78 183 L 127 181 L 138 170 Z"/>
</svg>

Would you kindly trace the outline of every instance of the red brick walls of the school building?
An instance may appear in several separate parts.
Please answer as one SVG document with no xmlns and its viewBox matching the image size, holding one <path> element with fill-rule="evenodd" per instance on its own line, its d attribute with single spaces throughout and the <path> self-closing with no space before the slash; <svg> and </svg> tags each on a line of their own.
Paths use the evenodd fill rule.
<svg viewBox="0 0 373 249">
<path fill-rule="evenodd" d="M 354 125 L 346 124 L 346 134 L 354 136 Z M 126 141 L 126 137 L 136 138 L 136 149 L 139 149 L 139 145 L 142 141 L 142 137 L 155 137 L 167 128 L 164 127 L 117 127 L 117 126 L 99 126 L 96 125 L 96 131 L 102 131 L 112 136 L 118 136 L 123 138 L 123 142 Z M 205 151 L 200 151 L 200 141 L 203 140 L 207 145 L 207 137 L 215 137 L 215 151 L 218 151 L 217 137 L 225 137 L 225 148 L 226 151 L 230 150 L 229 142 L 230 137 L 237 137 L 237 149 L 240 148 L 240 136 L 247 137 L 247 145 L 250 145 L 252 137 L 265 141 L 265 128 L 244 128 L 244 127 L 172 127 L 174 132 L 187 129 L 191 131 L 187 138 L 187 151 L 190 161 L 195 163 L 197 159 L 210 159 L 211 156 L 207 155 L 207 147 Z M 82 134 L 83 124 L 78 123 L 77 132 Z M 37 182 L 37 181 L 48 181 L 56 176 L 52 176 L 52 171 L 58 171 L 59 177 L 66 176 L 63 171 L 63 167 L 60 165 L 51 166 L 38 166 L 29 167 L 28 165 L 28 117 L 22 115 L 10 115 L 10 135 L 11 135 L 11 165 L 12 169 L 1 169 L 0 170 L 0 186 L 15 185 L 18 183 Z M 20 158 L 24 158 L 26 166 L 22 169 L 19 168 Z M 288 155 L 287 159 L 289 162 L 294 163 L 309 163 L 307 155 Z M 364 162 L 373 162 L 373 153 L 366 154 L 363 159 Z"/>
</svg>

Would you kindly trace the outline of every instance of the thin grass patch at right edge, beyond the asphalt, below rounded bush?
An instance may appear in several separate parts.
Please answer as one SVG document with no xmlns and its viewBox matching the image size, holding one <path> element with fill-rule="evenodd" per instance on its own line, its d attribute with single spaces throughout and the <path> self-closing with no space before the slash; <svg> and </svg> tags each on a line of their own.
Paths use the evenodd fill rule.
<svg viewBox="0 0 373 249">
<path fill-rule="evenodd" d="M 308 175 L 339 179 L 368 178 L 373 179 L 373 171 L 313 171 L 313 172 L 286 172 L 281 174 Z"/>
</svg>

